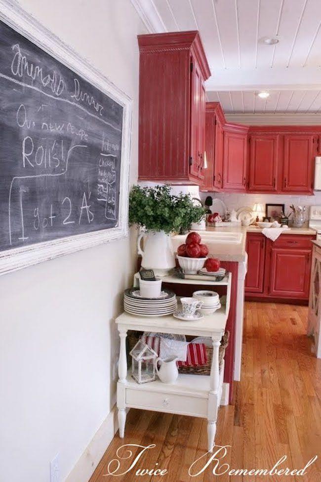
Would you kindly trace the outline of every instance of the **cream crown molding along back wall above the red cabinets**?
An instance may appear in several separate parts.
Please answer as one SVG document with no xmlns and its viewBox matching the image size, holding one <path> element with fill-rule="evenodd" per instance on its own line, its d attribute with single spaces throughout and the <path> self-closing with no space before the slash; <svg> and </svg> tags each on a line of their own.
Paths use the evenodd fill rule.
<svg viewBox="0 0 321 482">
<path fill-rule="evenodd" d="M 228 122 L 248 126 L 318 126 L 320 114 L 225 114 Z"/>
</svg>

